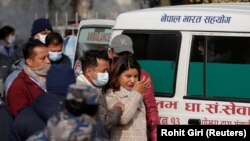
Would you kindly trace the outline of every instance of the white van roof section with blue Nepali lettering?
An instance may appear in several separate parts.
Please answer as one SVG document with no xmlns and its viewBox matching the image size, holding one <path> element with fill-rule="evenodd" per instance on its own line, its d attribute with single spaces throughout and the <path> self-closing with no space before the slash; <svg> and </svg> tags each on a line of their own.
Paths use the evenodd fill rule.
<svg viewBox="0 0 250 141">
<path fill-rule="evenodd" d="M 250 32 L 250 3 L 148 8 L 120 14 L 114 29 Z"/>
</svg>

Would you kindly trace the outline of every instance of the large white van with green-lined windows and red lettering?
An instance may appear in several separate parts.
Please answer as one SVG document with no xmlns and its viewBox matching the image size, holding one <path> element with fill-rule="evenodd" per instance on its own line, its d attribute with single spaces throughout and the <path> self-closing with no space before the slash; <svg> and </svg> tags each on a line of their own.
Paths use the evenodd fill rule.
<svg viewBox="0 0 250 141">
<path fill-rule="evenodd" d="M 250 124 L 250 3 L 120 14 L 155 88 L 161 124 Z"/>
</svg>

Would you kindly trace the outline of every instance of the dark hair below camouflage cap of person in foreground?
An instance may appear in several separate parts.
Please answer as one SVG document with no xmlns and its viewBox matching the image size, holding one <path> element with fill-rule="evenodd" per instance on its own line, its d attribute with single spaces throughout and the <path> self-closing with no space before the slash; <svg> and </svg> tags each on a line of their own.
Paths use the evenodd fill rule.
<svg viewBox="0 0 250 141">
<path fill-rule="evenodd" d="M 80 116 L 82 114 L 94 116 L 98 111 L 98 106 L 99 105 L 86 104 L 85 101 L 77 102 L 75 100 L 65 100 L 66 110 L 75 116 Z"/>
</svg>

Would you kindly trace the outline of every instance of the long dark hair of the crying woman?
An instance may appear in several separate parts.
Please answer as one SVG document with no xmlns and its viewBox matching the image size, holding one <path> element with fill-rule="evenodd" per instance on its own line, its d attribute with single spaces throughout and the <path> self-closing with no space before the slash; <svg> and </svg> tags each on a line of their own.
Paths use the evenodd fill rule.
<svg viewBox="0 0 250 141">
<path fill-rule="evenodd" d="M 103 87 L 103 93 L 106 93 L 109 88 L 112 88 L 114 91 L 118 91 L 120 89 L 119 77 L 128 69 L 137 69 L 138 77 L 140 78 L 141 67 L 132 54 L 122 55 L 113 60 L 109 75 L 109 82 Z"/>
</svg>

